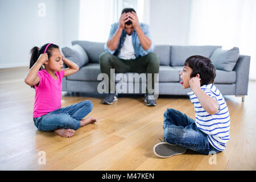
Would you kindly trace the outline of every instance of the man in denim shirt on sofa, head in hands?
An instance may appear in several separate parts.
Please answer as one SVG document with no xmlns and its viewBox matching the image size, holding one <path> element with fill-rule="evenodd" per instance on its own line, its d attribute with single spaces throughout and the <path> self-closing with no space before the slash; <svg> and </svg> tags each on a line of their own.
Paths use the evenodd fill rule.
<svg viewBox="0 0 256 182">
<path fill-rule="evenodd" d="M 110 93 L 110 84 L 114 82 L 110 69 L 115 69 L 116 73 L 152 73 L 152 92 L 147 89 L 144 101 L 147 106 L 156 106 L 154 73 L 159 73 L 159 57 L 153 52 L 154 43 L 148 25 L 139 23 L 134 9 L 123 9 L 119 22 L 112 24 L 105 51 L 100 55 L 100 67 L 101 72 L 108 75 L 109 94 L 102 103 L 117 101 L 117 93 Z"/>
</svg>

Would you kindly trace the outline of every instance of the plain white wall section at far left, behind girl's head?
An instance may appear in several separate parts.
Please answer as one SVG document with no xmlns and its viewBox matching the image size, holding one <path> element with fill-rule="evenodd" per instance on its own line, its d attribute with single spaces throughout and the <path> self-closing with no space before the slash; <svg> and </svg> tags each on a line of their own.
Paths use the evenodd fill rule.
<svg viewBox="0 0 256 182">
<path fill-rule="evenodd" d="M 38 15 L 39 3 L 46 5 L 46 16 Z M 61 0 L 0 0 L 0 68 L 29 65 L 34 46 L 63 46 L 62 14 Z"/>
</svg>

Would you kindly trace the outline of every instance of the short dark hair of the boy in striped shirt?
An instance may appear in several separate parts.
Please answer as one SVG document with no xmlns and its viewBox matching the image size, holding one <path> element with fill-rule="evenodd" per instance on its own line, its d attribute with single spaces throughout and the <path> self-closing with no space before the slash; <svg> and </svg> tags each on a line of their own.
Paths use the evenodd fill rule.
<svg viewBox="0 0 256 182">
<path fill-rule="evenodd" d="M 200 75 L 201 86 L 213 84 L 214 78 L 216 77 L 216 68 L 208 57 L 199 55 L 188 57 L 185 60 L 184 66 L 192 69 L 191 78 L 197 74 Z"/>
</svg>

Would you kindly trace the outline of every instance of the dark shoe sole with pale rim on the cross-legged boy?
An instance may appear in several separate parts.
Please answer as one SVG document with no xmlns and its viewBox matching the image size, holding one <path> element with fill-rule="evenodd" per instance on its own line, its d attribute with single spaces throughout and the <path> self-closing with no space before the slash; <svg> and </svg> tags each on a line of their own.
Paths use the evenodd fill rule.
<svg viewBox="0 0 256 182">
<path fill-rule="evenodd" d="M 185 147 L 177 146 L 167 142 L 155 144 L 153 147 L 154 154 L 159 158 L 170 158 L 174 155 L 184 154 L 186 151 L 187 148 Z"/>
</svg>

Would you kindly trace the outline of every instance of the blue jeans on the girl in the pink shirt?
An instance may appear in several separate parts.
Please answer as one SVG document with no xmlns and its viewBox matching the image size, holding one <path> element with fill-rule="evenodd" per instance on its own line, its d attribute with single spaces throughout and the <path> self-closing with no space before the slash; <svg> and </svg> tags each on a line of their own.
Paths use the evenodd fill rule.
<svg viewBox="0 0 256 182">
<path fill-rule="evenodd" d="M 41 131 L 53 131 L 61 128 L 77 130 L 81 125 L 80 120 L 89 114 L 92 108 L 92 102 L 82 101 L 34 118 L 34 123 Z"/>
</svg>

